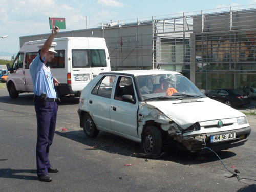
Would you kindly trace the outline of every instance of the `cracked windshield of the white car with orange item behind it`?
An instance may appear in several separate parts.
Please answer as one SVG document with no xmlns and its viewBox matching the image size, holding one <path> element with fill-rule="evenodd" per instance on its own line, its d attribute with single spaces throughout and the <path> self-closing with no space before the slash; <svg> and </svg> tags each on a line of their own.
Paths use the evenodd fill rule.
<svg viewBox="0 0 256 192">
<path fill-rule="evenodd" d="M 203 98 L 205 95 L 180 74 L 153 74 L 136 77 L 143 101 L 190 98 Z"/>
</svg>

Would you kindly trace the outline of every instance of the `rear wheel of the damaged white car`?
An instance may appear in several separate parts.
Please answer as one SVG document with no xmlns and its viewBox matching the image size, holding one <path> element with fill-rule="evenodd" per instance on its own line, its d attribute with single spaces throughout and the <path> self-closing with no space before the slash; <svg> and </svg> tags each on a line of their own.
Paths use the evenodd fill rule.
<svg viewBox="0 0 256 192">
<path fill-rule="evenodd" d="M 83 131 L 89 138 L 97 137 L 99 134 L 99 130 L 97 130 L 92 117 L 89 114 L 86 114 L 83 117 Z"/>
</svg>

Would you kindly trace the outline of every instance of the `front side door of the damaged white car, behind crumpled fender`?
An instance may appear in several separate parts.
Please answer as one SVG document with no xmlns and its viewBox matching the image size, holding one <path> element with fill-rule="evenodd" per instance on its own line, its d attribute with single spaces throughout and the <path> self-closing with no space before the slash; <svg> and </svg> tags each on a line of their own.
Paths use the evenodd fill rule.
<svg viewBox="0 0 256 192">
<path fill-rule="evenodd" d="M 122 101 L 122 95 L 132 95 L 134 103 Z M 138 105 L 133 78 L 130 76 L 119 76 L 114 97 L 110 103 L 111 129 L 125 135 L 138 137 Z"/>
</svg>

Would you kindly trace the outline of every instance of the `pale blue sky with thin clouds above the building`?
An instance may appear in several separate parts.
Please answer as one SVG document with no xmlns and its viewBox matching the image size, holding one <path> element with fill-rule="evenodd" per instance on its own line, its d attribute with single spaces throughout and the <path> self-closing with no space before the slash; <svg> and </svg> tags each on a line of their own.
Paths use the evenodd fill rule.
<svg viewBox="0 0 256 192">
<path fill-rule="evenodd" d="M 19 37 L 51 33 L 49 17 L 65 18 L 66 29 L 60 31 L 72 31 L 182 12 L 256 8 L 256 0 L 0 0 L 0 5 L 0 37 L 9 35 L 0 38 L 0 53 L 5 56 L 2 52 L 19 51 Z"/>
</svg>

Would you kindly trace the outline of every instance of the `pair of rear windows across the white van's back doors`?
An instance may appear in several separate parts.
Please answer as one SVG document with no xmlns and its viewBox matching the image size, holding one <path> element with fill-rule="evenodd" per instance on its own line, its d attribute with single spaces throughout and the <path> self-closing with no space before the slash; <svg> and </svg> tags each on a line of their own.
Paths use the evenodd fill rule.
<svg viewBox="0 0 256 192">
<path fill-rule="evenodd" d="M 106 67 L 104 49 L 73 49 L 73 68 Z"/>
</svg>

